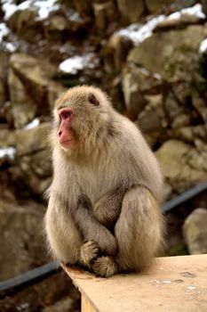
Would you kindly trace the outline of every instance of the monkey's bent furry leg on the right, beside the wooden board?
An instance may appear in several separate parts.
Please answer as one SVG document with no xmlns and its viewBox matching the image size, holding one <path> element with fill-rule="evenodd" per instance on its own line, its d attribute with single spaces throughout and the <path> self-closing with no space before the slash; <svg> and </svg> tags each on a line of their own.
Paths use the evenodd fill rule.
<svg viewBox="0 0 207 312">
<path fill-rule="evenodd" d="M 123 197 L 120 217 L 115 224 L 119 252 L 115 262 L 121 271 L 148 267 L 163 247 L 163 216 L 153 194 L 137 185 Z"/>
</svg>

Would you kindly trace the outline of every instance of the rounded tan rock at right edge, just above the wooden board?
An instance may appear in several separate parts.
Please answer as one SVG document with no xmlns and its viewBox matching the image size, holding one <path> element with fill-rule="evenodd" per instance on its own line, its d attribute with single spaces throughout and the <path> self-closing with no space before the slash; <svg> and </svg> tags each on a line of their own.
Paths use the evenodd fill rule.
<svg viewBox="0 0 207 312">
<path fill-rule="evenodd" d="M 190 254 L 207 253 L 207 209 L 195 209 L 185 220 L 183 234 Z"/>
</svg>

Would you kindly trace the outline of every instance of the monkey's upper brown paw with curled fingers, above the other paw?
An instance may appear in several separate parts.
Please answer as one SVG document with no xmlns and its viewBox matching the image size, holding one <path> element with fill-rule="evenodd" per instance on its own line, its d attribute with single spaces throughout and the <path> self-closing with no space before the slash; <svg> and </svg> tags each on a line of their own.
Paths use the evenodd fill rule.
<svg viewBox="0 0 207 312">
<path fill-rule="evenodd" d="M 100 248 L 97 242 L 84 242 L 81 246 L 81 260 L 84 266 L 92 267 L 92 261 L 100 255 Z"/>
</svg>

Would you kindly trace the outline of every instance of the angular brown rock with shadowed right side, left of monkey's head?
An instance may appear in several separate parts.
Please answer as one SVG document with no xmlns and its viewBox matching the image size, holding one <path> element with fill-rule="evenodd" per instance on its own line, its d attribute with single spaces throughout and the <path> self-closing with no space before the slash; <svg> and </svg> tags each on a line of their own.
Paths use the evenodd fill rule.
<svg viewBox="0 0 207 312">
<path fill-rule="evenodd" d="M 8 83 L 12 115 L 14 126 L 20 128 L 26 126 L 40 111 L 42 114 L 49 112 L 48 86 L 54 68 L 23 53 L 14 53 L 10 66 Z"/>
</svg>

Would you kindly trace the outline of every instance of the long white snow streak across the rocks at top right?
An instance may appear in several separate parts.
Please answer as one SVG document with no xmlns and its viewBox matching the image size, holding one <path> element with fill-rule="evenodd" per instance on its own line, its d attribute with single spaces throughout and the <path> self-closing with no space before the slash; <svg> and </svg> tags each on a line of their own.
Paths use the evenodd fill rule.
<svg viewBox="0 0 207 312">
<path fill-rule="evenodd" d="M 179 12 L 171 13 L 171 15 L 169 16 L 159 15 L 147 21 L 145 25 L 131 24 L 125 29 L 118 30 L 115 34 L 121 37 L 128 37 L 129 39 L 131 39 L 134 45 L 139 45 L 145 39 L 147 39 L 147 37 L 152 36 L 153 30 L 160 22 L 179 20 L 184 14 L 196 16 L 199 19 L 206 18 L 205 14 L 202 12 L 202 5 L 195 4 L 194 6 L 182 9 Z"/>
</svg>

